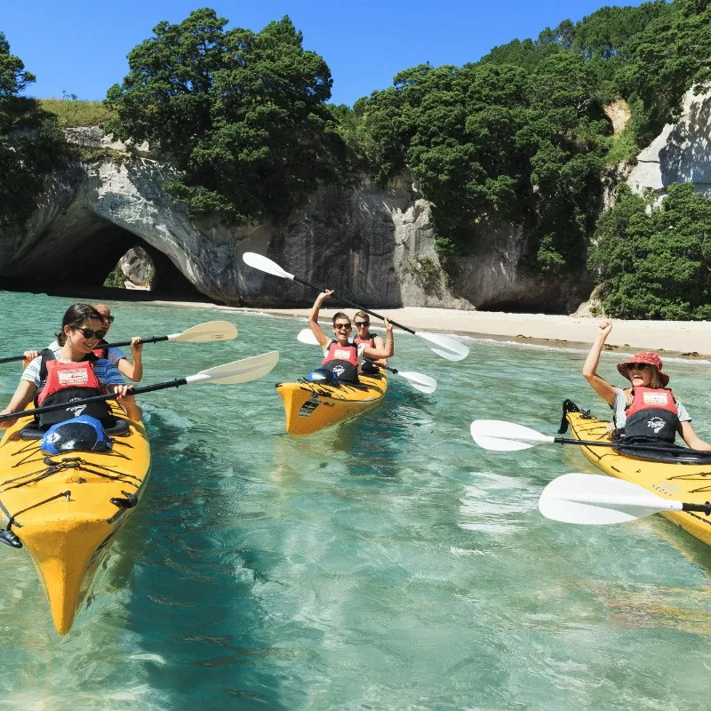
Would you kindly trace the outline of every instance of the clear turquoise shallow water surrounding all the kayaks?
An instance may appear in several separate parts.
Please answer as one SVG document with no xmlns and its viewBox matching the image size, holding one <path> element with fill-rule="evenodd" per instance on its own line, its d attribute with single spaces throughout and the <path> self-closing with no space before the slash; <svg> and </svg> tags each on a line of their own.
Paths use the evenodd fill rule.
<svg viewBox="0 0 711 711">
<path fill-rule="evenodd" d="M 68 299 L 0 292 L 0 355 L 41 347 Z M 659 516 L 542 518 L 574 447 L 478 449 L 475 418 L 553 434 L 606 415 L 574 348 L 468 340 L 450 363 L 396 336 L 387 405 L 303 439 L 274 384 L 318 360 L 304 322 L 117 303 L 114 340 L 226 318 L 216 344 L 148 345 L 148 384 L 277 348 L 266 379 L 146 395 L 154 467 L 88 608 L 57 635 L 23 551 L 0 549 L 3 703 L 18 709 L 696 709 L 711 672 L 711 550 Z M 591 332 L 594 324 L 591 324 Z M 619 355 L 603 355 L 610 378 Z M 711 439 L 707 364 L 670 363 Z M 17 384 L 0 366 L 0 398 Z"/>
</svg>

